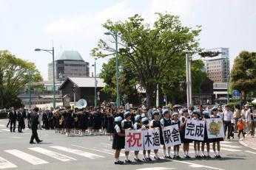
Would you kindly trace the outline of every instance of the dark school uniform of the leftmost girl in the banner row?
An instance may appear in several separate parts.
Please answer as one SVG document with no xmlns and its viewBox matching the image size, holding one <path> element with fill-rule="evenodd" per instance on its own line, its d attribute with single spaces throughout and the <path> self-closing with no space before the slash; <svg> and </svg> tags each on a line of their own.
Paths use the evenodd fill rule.
<svg viewBox="0 0 256 170">
<path fill-rule="evenodd" d="M 121 124 L 115 124 L 112 149 L 124 149 L 125 137 L 119 136 L 118 132 L 121 132 Z"/>
</svg>

